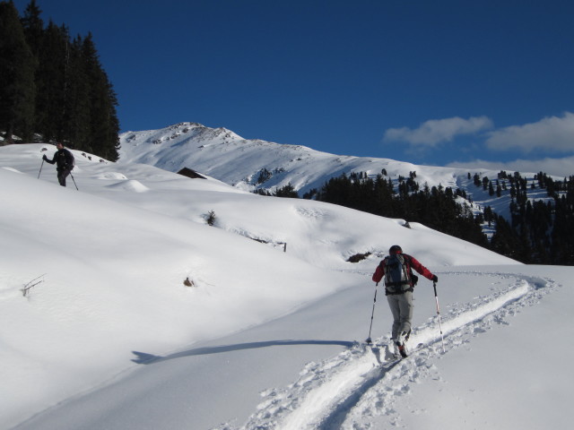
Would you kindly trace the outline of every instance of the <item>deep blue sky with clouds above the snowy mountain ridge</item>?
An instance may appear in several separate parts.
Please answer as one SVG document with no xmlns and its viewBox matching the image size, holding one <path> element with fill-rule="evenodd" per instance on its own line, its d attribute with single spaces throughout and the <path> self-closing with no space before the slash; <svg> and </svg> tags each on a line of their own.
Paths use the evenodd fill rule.
<svg viewBox="0 0 574 430">
<path fill-rule="evenodd" d="M 342 155 L 574 175 L 571 1 L 37 3 L 45 22 L 91 31 L 122 131 L 192 121 Z"/>
</svg>

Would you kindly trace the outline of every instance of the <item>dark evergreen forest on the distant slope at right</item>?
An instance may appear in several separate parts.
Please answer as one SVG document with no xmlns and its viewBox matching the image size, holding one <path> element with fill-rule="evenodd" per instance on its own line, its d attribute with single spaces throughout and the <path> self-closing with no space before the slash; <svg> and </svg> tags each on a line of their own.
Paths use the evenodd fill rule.
<svg viewBox="0 0 574 430">
<path fill-rule="evenodd" d="M 474 185 L 490 195 L 497 193 L 500 197 L 509 193 L 508 220 L 490 206 L 483 213 L 474 214 L 468 204 L 457 202 L 457 197 L 472 202 L 465 190 L 427 184 L 421 189 L 415 180 L 416 172 L 410 172 L 408 177 L 399 176 L 396 185 L 385 176 L 386 172 L 374 178 L 365 172 L 343 174 L 330 178 L 319 190 L 313 189 L 303 198 L 420 222 L 518 262 L 574 265 L 574 176 L 554 181 L 540 172 L 528 184 L 518 172 L 511 176 L 500 172 L 494 182 L 486 176 L 474 175 Z M 468 179 L 471 177 L 469 173 Z M 545 190 L 548 199 L 530 199 L 527 192 L 532 189 Z M 292 185 L 266 195 L 299 197 Z M 486 223 L 494 229 L 490 240 L 483 231 Z"/>
</svg>

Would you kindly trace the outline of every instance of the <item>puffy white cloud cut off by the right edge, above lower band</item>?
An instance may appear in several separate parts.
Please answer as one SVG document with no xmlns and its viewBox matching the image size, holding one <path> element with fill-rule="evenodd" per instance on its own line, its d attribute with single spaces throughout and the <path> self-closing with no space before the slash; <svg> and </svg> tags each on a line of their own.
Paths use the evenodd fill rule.
<svg viewBox="0 0 574 430">
<path fill-rule="evenodd" d="M 574 150 L 574 114 L 549 116 L 537 123 L 512 125 L 490 133 L 486 145 L 491 150 Z"/>
</svg>

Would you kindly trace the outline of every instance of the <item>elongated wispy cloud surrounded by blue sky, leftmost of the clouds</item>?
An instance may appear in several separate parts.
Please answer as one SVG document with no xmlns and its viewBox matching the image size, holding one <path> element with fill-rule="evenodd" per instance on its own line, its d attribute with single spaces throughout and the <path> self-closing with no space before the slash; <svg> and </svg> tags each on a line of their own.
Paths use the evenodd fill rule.
<svg viewBox="0 0 574 430">
<path fill-rule="evenodd" d="M 389 128 L 385 132 L 385 142 L 401 141 L 413 145 L 436 146 L 441 142 L 451 142 L 461 134 L 473 134 L 492 128 L 487 116 L 472 116 L 468 119 L 455 116 L 445 119 L 431 119 L 418 128 Z"/>
</svg>

